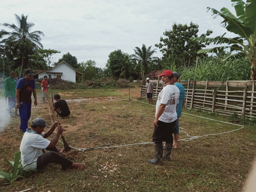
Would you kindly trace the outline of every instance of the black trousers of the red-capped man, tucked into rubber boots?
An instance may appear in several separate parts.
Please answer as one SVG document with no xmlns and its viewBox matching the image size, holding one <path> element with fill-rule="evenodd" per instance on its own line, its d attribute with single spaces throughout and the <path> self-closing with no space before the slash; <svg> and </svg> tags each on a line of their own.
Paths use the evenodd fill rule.
<svg viewBox="0 0 256 192">
<path fill-rule="evenodd" d="M 164 141 L 166 143 L 173 143 L 173 128 L 174 128 L 175 121 L 173 122 L 163 122 L 163 121 L 158 121 L 157 126 L 154 127 L 154 132 L 153 132 L 153 142 L 154 143 L 163 143 Z"/>
</svg>

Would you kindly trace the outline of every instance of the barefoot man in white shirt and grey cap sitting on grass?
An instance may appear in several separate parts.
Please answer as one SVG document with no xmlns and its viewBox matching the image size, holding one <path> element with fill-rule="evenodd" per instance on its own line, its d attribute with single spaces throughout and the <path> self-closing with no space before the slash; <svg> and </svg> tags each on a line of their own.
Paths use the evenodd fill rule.
<svg viewBox="0 0 256 192">
<path fill-rule="evenodd" d="M 27 128 L 20 143 L 21 164 L 23 167 L 28 165 L 24 169 L 42 169 L 48 163 L 60 164 L 62 170 L 66 170 L 70 166 L 76 169 L 84 168 L 85 163 L 73 163 L 59 155 L 64 151 L 64 148 L 55 147 L 60 134 L 63 132 L 61 126 L 56 130 L 56 134 L 51 141 L 46 139 L 55 130 L 57 123 L 60 123 L 59 120 L 54 122 L 47 132 L 43 133 L 44 127 L 49 128 L 49 126 L 46 125 L 44 119 L 36 118 L 33 120 L 31 128 Z M 43 149 L 47 149 L 49 152 L 43 154 Z"/>
</svg>

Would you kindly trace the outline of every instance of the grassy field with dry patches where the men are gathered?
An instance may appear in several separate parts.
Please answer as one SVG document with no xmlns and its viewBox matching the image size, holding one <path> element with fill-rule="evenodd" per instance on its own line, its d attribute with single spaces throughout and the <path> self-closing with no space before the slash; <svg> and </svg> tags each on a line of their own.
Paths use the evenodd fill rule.
<svg viewBox="0 0 256 192">
<path fill-rule="evenodd" d="M 93 102 L 94 91 L 94 102 Z M 91 148 L 99 145 L 127 145 L 151 142 L 155 106 L 147 101 L 127 99 L 128 89 L 121 90 L 53 90 L 66 99 L 71 116 L 61 119 L 64 135 L 70 146 Z M 140 88 L 132 88 L 130 97 L 138 99 Z M 97 99 L 96 99 L 97 98 Z M 125 100 L 124 100 L 125 99 Z M 140 100 L 141 101 L 141 100 Z M 184 109 L 180 117 L 180 137 L 201 136 L 240 128 L 232 124 L 203 119 Z M 194 113 L 224 122 L 227 117 L 211 113 Z M 42 117 L 52 124 L 49 107 L 41 101 L 32 106 L 31 119 Z M 31 124 L 32 120 L 29 121 Z M 0 132 L 0 170 L 11 167 L 3 161 L 13 160 L 19 151 L 23 134 L 19 131 L 19 117 L 11 118 Z M 186 133 L 184 133 L 184 132 Z M 72 149 L 62 155 L 74 162 L 86 163 L 84 170 L 68 169 L 50 164 L 42 173 L 35 173 L 14 183 L 0 181 L 0 191 L 21 191 L 32 186 L 35 191 L 241 191 L 256 153 L 255 126 L 226 134 L 209 135 L 180 141 L 172 150 L 172 161 L 163 166 L 151 165 L 153 144 L 138 144 L 90 151 Z M 52 139 L 53 136 L 49 138 Z M 62 147 L 61 143 L 57 144 Z"/>
</svg>

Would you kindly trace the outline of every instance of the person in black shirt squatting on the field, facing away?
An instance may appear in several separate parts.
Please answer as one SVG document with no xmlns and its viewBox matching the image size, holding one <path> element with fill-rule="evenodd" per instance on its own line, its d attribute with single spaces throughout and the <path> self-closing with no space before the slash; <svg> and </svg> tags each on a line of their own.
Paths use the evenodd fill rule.
<svg viewBox="0 0 256 192">
<path fill-rule="evenodd" d="M 54 111 L 56 111 L 57 114 L 61 117 L 68 117 L 70 115 L 70 110 L 67 102 L 61 99 L 61 96 L 59 94 L 55 94 L 53 98 L 56 101 L 55 104 L 52 104 L 54 107 Z"/>
</svg>

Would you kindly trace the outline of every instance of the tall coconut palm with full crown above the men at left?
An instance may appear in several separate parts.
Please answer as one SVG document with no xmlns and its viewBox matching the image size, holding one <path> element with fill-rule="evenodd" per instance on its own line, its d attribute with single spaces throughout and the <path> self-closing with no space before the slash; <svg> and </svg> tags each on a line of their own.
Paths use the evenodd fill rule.
<svg viewBox="0 0 256 192">
<path fill-rule="evenodd" d="M 30 32 L 31 28 L 35 26 L 34 23 L 27 21 L 28 15 L 20 16 L 16 15 L 17 26 L 15 24 L 3 23 L 3 26 L 12 29 L 12 32 L 8 32 L 9 37 L 3 40 L 9 47 L 11 47 L 13 53 L 17 53 L 21 57 L 20 75 L 22 73 L 24 57 L 29 55 L 36 49 L 42 49 L 43 45 L 40 43 L 41 37 L 44 33 L 41 31 Z M 20 77 L 19 75 L 19 77 Z"/>
</svg>

